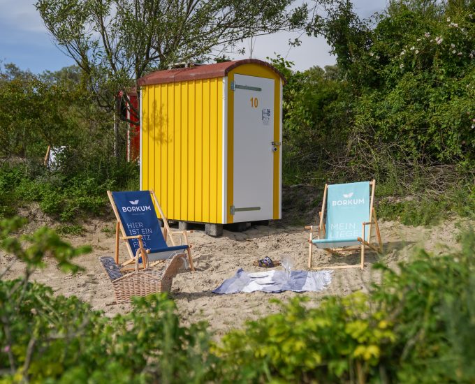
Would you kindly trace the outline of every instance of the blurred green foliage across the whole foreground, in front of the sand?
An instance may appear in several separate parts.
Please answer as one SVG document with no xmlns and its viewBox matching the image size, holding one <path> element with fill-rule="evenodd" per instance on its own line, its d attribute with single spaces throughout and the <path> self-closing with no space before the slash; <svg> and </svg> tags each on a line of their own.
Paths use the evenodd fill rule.
<svg viewBox="0 0 475 384">
<path fill-rule="evenodd" d="M 396 269 L 377 265 L 368 293 L 281 304 L 211 341 L 205 323 L 181 325 L 166 295 L 136 298 L 114 318 L 76 297 L 30 283 L 50 253 L 78 272 L 74 249 L 51 230 L 11 236 L 22 221 L 0 223 L 0 248 L 25 265 L 0 281 L 0 377 L 19 381 L 120 383 L 472 383 L 475 380 L 475 232 L 460 250 L 423 250 Z M 51 259 L 48 260 L 51 263 Z M 0 272 L 1 273 L 1 272 Z"/>
</svg>

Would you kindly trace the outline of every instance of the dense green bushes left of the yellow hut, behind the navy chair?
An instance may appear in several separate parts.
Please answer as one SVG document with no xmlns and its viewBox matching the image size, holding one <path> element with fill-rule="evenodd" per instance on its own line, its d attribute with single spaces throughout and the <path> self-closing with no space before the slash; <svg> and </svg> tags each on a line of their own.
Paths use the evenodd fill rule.
<svg viewBox="0 0 475 384">
<path fill-rule="evenodd" d="M 0 71 L 0 133 L 6 138 L 0 216 L 34 201 L 43 212 L 72 221 L 78 214 L 101 214 L 108 189 L 136 188 L 138 166 L 114 158 L 112 124 L 83 80 L 78 67 L 33 75 L 6 64 Z M 64 147 L 49 168 L 43 164 L 48 146 Z"/>
</svg>

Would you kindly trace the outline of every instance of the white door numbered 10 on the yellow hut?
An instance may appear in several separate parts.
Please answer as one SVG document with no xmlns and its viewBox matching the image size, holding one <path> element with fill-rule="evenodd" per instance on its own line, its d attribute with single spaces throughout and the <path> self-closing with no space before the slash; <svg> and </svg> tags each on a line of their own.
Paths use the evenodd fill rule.
<svg viewBox="0 0 475 384">
<path fill-rule="evenodd" d="M 272 219 L 274 83 L 234 75 L 235 223 Z"/>
</svg>

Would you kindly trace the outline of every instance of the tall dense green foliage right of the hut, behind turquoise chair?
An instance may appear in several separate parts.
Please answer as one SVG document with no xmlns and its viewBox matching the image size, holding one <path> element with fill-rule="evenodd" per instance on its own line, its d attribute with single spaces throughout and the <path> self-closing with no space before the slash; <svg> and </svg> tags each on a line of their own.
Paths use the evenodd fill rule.
<svg viewBox="0 0 475 384">
<path fill-rule="evenodd" d="M 317 3 L 326 17 L 309 31 L 326 37 L 337 66 L 294 72 L 273 61 L 288 80 L 284 182 L 375 178 L 386 196 L 415 197 L 385 209 L 406 223 L 473 214 L 473 1 L 391 1 L 370 20 L 350 1 Z"/>
</svg>

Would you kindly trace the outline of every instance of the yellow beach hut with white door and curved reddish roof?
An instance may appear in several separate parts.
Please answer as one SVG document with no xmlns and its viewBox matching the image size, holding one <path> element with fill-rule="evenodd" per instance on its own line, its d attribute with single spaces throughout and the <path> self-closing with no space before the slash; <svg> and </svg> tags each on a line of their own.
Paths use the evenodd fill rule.
<svg viewBox="0 0 475 384">
<path fill-rule="evenodd" d="M 140 189 L 168 220 L 223 224 L 281 218 L 282 85 L 245 59 L 156 71 L 140 86 Z"/>
</svg>

